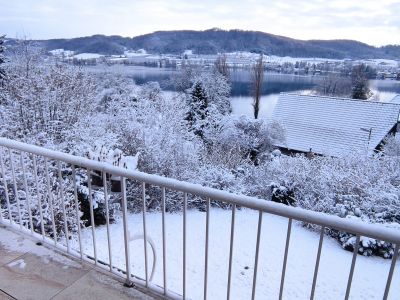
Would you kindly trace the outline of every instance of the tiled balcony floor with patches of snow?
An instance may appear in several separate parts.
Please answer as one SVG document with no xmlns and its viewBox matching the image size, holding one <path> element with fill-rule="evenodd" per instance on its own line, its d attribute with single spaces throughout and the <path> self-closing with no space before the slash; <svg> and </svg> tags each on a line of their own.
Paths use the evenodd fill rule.
<svg viewBox="0 0 400 300">
<path fill-rule="evenodd" d="M 0 226 L 0 299 L 154 299 Z"/>
</svg>

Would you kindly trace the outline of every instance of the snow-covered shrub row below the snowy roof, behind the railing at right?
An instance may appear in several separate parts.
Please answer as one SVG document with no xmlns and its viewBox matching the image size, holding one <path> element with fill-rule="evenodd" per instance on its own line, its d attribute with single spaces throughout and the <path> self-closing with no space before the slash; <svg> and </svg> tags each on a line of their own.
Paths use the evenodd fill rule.
<svg viewBox="0 0 400 300">
<path fill-rule="evenodd" d="M 400 223 L 400 157 L 353 153 L 344 157 L 280 156 L 246 174 L 247 194 L 270 199 L 268 183 L 293 193 L 295 205 L 342 218 L 397 226 Z M 252 184 L 253 183 L 253 184 Z M 267 183 L 267 184 L 266 184 Z M 352 250 L 352 235 L 334 230 L 345 249 Z M 391 257 L 394 246 L 369 239 L 360 253 Z"/>
</svg>

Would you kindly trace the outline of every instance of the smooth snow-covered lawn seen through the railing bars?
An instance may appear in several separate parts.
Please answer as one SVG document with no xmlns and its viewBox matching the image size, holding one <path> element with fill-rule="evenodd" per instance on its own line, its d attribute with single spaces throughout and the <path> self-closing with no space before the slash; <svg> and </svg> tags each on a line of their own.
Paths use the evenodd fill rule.
<svg viewBox="0 0 400 300">
<path fill-rule="evenodd" d="M 192 299 L 203 297 L 204 212 L 189 211 L 187 215 L 187 293 Z M 210 213 L 208 297 L 226 297 L 231 212 L 212 209 Z M 235 246 L 232 271 L 232 299 L 251 297 L 254 253 L 258 213 L 243 209 L 237 211 Z M 264 214 L 261 235 L 260 260 L 257 278 L 257 299 L 278 298 L 286 240 L 287 219 Z M 131 236 L 142 234 L 142 215 L 130 214 L 128 225 Z M 153 282 L 162 286 L 162 229 L 161 214 L 147 214 L 147 233 L 156 244 L 157 268 Z M 113 265 L 125 268 L 122 220 L 110 226 Z M 93 255 L 91 229 L 83 230 L 84 252 Z M 166 214 L 167 287 L 182 293 L 182 214 Z M 284 299 L 309 299 L 319 234 L 294 223 L 285 279 Z M 108 262 L 107 231 L 105 226 L 96 230 L 98 258 Z M 74 247 L 77 248 L 75 241 Z M 144 278 L 143 240 L 132 241 L 132 273 Z M 149 270 L 152 255 L 148 247 Z M 337 241 L 324 239 L 316 299 L 343 299 L 352 253 L 341 249 Z M 377 257 L 357 257 L 351 297 L 352 299 L 382 299 L 389 260 Z M 400 299 L 400 268 L 393 277 L 390 299 Z"/>
</svg>

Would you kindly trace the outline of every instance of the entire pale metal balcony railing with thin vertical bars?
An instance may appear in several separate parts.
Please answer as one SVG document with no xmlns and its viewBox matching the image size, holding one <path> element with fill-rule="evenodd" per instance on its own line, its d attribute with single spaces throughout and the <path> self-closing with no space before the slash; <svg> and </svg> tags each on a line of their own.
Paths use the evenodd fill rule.
<svg viewBox="0 0 400 300">
<path fill-rule="evenodd" d="M 366 236 L 369 238 L 375 238 L 378 240 L 386 241 L 386 242 L 391 242 L 395 244 L 395 249 L 390 265 L 390 270 L 388 274 L 388 279 L 386 281 L 386 287 L 384 291 L 384 296 L 383 299 L 387 299 L 389 290 L 390 290 L 390 285 L 394 273 L 394 268 L 397 262 L 397 257 L 398 253 L 400 250 L 400 232 L 398 230 L 386 228 L 383 225 L 376 225 L 376 224 L 367 224 L 363 222 L 358 222 L 354 220 L 349 220 L 349 219 L 344 219 L 344 218 L 339 218 L 337 216 L 331 216 L 327 215 L 324 213 L 320 212 L 314 212 L 314 211 L 309 211 L 305 210 L 302 208 L 297 208 L 297 207 L 291 207 L 291 206 L 285 206 L 282 204 L 274 203 L 271 201 L 266 201 L 263 199 L 258 199 L 255 197 L 249 197 L 245 195 L 238 195 L 238 194 L 233 194 L 230 192 L 226 191 L 221 191 L 209 187 L 204 187 L 199 184 L 193 184 L 193 183 L 188 183 L 184 181 L 179 181 L 176 179 L 171 179 L 171 178 L 166 178 L 158 175 L 151 175 L 151 174 L 146 174 L 143 172 L 139 171 L 132 171 L 132 170 L 127 170 L 121 167 L 116 167 L 111 164 L 105 163 L 105 162 L 98 162 L 94 160 L 90 160 L 84 157 L 78 157 L 74 156 L 71 154 L 66 154 L 58 151 L 53 151 L 49 149 L 45 149 L 42 147 L 38 147 L 35 145 L 29 145 L 25 144 L 22 142 L 17 142 L 14 140 L 6 139 L 6 138 L 0 138 L 0 148 L 6 148 L 8 150 L 8 155 L 9 155 L 9 167 L 11 169 L 12 173 L 12 178 L 13 178 L 13 184 L 14 184 L 14 196 L 15 200 L 17 201 L 17 208 L 18 208 L 18 219 L 19 219 L 19 224 L 15 222 L 11 216 L 10 212 L 10 201 L 9 201 L 9 196 L 8 196 L 8 188 L 7 188 L 7 182 L 5 180 L 5 168 L 4 168 L 4 163 L 3 163 L 3 155 L 2 151 L 0 151 L 0 167 L 1 167 L 1 175 L 3 179 L 3 185 L 5 189 L 5 197 L 6 197 L 6 202 L 7 202 L 7 209 L 8 209 L 8 221 L 10 222 L 11 226 L 18 227 L 19 225 L 19 230 L 23 232 L 30 232 L 31 235 L 34 236 L 40 236 L 43 241 L 49 244 L 53 244 L 54 246 L 66 251 L 68 254 L 74 255 L 74 256 L 79 256 L 81 259 L 87 260 L 91 259 L 92 262 L 94 261 L 94 264 L 98 267 L 104 267 L 106 266 L 104 262 L 98 260 L 97 253 L 96 253 L 96 231 L 95 231 L 95 226 L 92 226 L 92 239 L 93 239 L 93 253 L 94 257 L 90 257 L 87 255 L 83 254 L 82 250 L 82 242 L 81 242 L 81 233 L 80 233 L 80 227 L 78 226 L 78 238 L 79 238 L 79 252 L 76 252 L 75 250 L 71 249 L 68 239 L 66 239 L 66 247 L 63 245 L 59 244 L 58 237 L 57 237 L 57 232 L 55 228 L 55 219 L 54 219 L 54 212 L 53 212 L 53 207 L 52 207 L 52 193 L 50 192 L 50 181 L 49 181 L 49 169 L 48 169 L 48 160 L 53 160 L 55 162 L 55 166 L 57 168 L 57 172 L 55 176 L 58 178 L 58 185 L 59 185 L 59 195 L 62 200 L 62 214 L 63 214 L 63 220 L 64 220 L 64 231 L 66 236 L 68 236 L 68 227 L 66 226 L 65 220 L 67 220 L 67 215 L 65 211 L 65 203 L 64 203 L 64 193 L 63 193 L 63 178 L 62 178 L 62 173 L 61 173 L 61 163 L 67 163 L 72 166 L 72 177 L 74 178 L 74 198 L 75 198 L 75 204 L 76 204 L 76 209 L 78 210 L 78 198 L 77 198 L 77 187 L 76 187 L 76 167 L 81 167 L 86 169 L 86 173 L 88 176 L 87 184 L 88 184 L 88 198 L 89 198 L 89 203 L 90 203 L 90 220 L 91 224 L 94 224 L 94 212 L 93 212 L 93 199 L 92 199 L 92 184 L 91 184 L 91 179 L 90 179 L 90 172 L 91 171 L 100 171 L 102 172 L 103 176 L 103 188 L 104 188 L 104 195 L 105 195 L 105 201 L 106 201 L 106 214 L 107 214 L 107 239 L 108 239 L 108 254 L 109 254 L 109 271 L 111 273 L 115 273 L 114 268 L 115 266 L 112 264 L 112 259 L 111 259 L 111 242 L 110 242 L 110 231 L 109 231 L 109 214 L 108 214 L 108 204 L 107 204 L 107 184 L 106 184 L 106 178 L 107 174 L 112 174 L 113 176 L 120 177 L 121 180 L 121 210 L 122 210 L 122 220 L 123 220 L 123 233 L 124 233 L 124 254 L 125 254 L 125 270 L 120 270 L 122 273 L 119 273 L 120 276 L 126 277 L 126 284 L 131 286 L 133 283 L 138 284 L 142 286 L 143 288 L 146 288 L 149 291 L 153 291 L 158 294 L 162 294 L 165 298 L 168 299 L 183 299 L 186 298 L 186 236 L 187 236 L 187 196 L 188 194 L 196 195 L 196 196 L 201 196 L 204 197 L 206 200 L 206 228 L 205 228 L 205 261 L 204 261 L 204 286 L 203 286 L 203 293 L 204 293 L 204 299 L 207 298 L 207 283 L 208 283 L 208 244 L 209 244 L 209 223 L 210 223 L 210 203 L 211 200 L 213 201 L 221 201 L 225 202 L 228 204 L 231 204 L 231 209 L 232 209 L 232 217 L 231 217 L 231 232 L 230 232 L 230 246 L 229 246 L 229 270 L 228 270 L 228 284 L 227 284 L 227 299 L 230 299 L 230 289 L 231 289 L 231 273 L 232 273 L 232 257 L 233 257 L 233 247 L 234 247 L 234 232 L 235 232 L 235 211 L 236 208 L 241 206 L 241 207 L 247 207 L 250 209 L 254 209 L 259 212 L 259 218 L 258 218 L 258 227 L 257 227 L 257 244 L 256 244 L 256 253 L 254 256 L 254 274 L 253 274 L 253 284 L 252 284 L 252 296 L 251 299 L 255 298 L 255 291 L 256 291 L 256 284 L 257 284 L 257 266 L 258 266 L 258 256 L 259 256 L 259 246 L 260 246 L 260 235 L 261 235 L 261 228 L 262 228 L 262 216 L 263 213 L 270 213 L 273 215 L 278 215 L 281 217 L 285 217 L 288 219 L 288 227 L 287 227 L 287 235 L 286 235 L 286 245 L 285 245 L 285 253 L 284 253 L 284 259 L 283 259 L 283 265 L 282 265 L 282 273 L 281 273 L 281 281 L 280 281 L 280 290 L 279 290 L 279 299 L 282 299 L 283 297 L 283 291 L 284 291 L 284 283 L 285 283 L 285 274 L 286 274 L 286 265 L 287 265 L 287 259 L 288 259 L 288 253 L 290 249 L 290 236 L 291 236 L 291 230 L 292 230 L 292 221 L 297 220 L 297 221 L 303 221 L 306 223 L 314 224 L 314 225 L 319 225 L 320 228 L 320 238 L 319 238 L 319 246 L 318 246 L 318 253 L 317 253 L 317 258 L 316 258 L 316 263 L 315 263 L 315 269 L 314 269 L 314 276 L 313 276 L 313 283 L 312 283 L 312 288 L 311 288 L 311 296 L 310 299 L 314 299 L 314 294 L 315 294 L 315 289 L 316 289 L 316 282 L 317 282 L 317 277 L 318 277 L 318 269 L 319 269 L 319 264 L 320 264 L 320 257 L 321 257 L 321 250 L 322 250 L 322 243 L 323 243 L 323 237 L 324 237 L 324 232 L 325 229 L 336 229 L 336 230 L 341 230 L 345 231 L 348 233 L 352 233 L 356 235 L 356 242 L 354 245 L 353 249 L 353 256 L 352 256 L 352 261 L 351 261 L 351 267 L 350 267 L 350 272 L 349 272 L 349 277 L 347 280 L 347 288 L 346 288 L 346 295 L 345 299 L 347 300 L 350 295 L 351 291 L 351 284 L 353 281 L 353 275 L 354 275 L 354 268 L 356 264 L 356 259 L 357 259 L 357 254 L 358 254 L 358 249 L 359 249 L 359 244 L 362 236 Z M 17 191 L 17 182 L 16 182 L 16 173 L 15 173 L 15 166 L 13 164 L 13 158 L 12 158 L 12 150 L 17 150 L 20 151 L 20 165 L 22 168 L 22 175 L 23 175 L 23 183 L 24 183 L 24 188 L 25 192 L 27 195 L 27 201 L 28 201 L 28 213 L 29 213 L 29 227 L 26 228 L 25 226 L 22 225 L 21 222 L 21 213 L 19 210 L 19 198 L 17 196 L 18 193 L 15 193 Z M 44 157 L 44 168 L 45 168 L 45 174 L 44 176 L 46 177 L 46 184 L 47 184 L 47 193 L 49 195 L 49 204 L 50 204 L 50 211 L 51 211 L 51 217 L 52 217 L 52 232 L 53 232 L 53 238 L 49 239 L 46 237 L 44 233 L 44 228 L 43 225 L 41 225 L 41 234 L 38 234 L 34 232 L 33 226 L 32 226 L 32 214 L 30 211 L 30 204 L 29 204 L 29 193 L 28 193 L 28 186 L 27 186 L 27 179 L 26 179 L 26 172 L 25 172 L 25 165 L 24 165 L 24 160 L 22 158 L 23 153 L 30 153 L 33 154 L 33 169 L 34 169 L 34 178 L 35 178 L 35 184 L 36 184 L 36 191 L 38 192 L 38 178 L 37 178 L 37 160 L 36 156 L 42 156 Z M 128 230 L 128 225 L 127 225 L 127 190 L 126 190 L 126 179 L 133 179 L 136 181 L 141 182 L 142 184 L 142 204 L 143 204 L 143 232 L 144 232 L 144 258 L 145 258 L 145 278 L 142 279 L 134 274 L 131 274 L 131 263 L 130 263 L 130 235 L 129 235 L 129 230 Z M 155 285 L 149 280 L 148 276 L 148 262 L 147 262 L 147 246 L 146 246 L 146 183 L 151 184 L 153 186 L 159 186 L 162 188 L 162 255 L 163 255 L 163 286 L 158 286 Z M 174 293 L 173 291 L 170 291 L 167 287 L 167 263 L 166 263 L 166 252 L 167 252 L 167 244 L 166 244 L 166 231 L 165 231 L 165 226 L 166 226 L 166 220 L 165 220 L 165 190 L 166 188 L 171 189 L 171 190 L 176 190 L 183 192 L 183 201 L 182 201 L 182 208 L 183 208 L 183 255 L 182 255 L 182 260 L 183 260 L 183 269 L 182 269 L 182 287 L 183 287 L 183 295 L 178 295 Z M 40 197 L 38 198 L 39 204 L 40 202 Z M 41 209 L 39 209 L 40 212 L 40 217 L 42 218 L 41 215 Z M 2 216 L 2 209 L 0 206 L 0 223 L 4 221 L 3 216 Z M 41 221 L 43 224 L 43 221 Z M 79 224 L 79 213 L 77 211 L 77 216 L 76 216 L 76 222 Z M 121 275 L 124 274 L 124 275 Z"/>
</svg>

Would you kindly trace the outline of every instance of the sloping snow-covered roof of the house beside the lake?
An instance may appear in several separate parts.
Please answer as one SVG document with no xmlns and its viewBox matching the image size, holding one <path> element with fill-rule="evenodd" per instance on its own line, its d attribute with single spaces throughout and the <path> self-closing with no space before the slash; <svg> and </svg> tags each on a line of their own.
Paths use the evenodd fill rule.
<svg viewBox="0 0 400 300">
<path fill-rule="evenodd" d="M 375 149 L 399 111 L 395 103 L 281 93 L 272 118 L 286 128 L 286 143 L 277 146 L 340 156 Z"/>
</svg>

